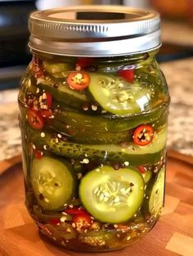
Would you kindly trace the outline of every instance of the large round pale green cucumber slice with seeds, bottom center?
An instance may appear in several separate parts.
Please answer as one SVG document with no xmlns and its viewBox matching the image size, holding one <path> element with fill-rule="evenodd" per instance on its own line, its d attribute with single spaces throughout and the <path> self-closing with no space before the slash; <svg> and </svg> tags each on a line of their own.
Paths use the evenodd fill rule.
<svg viewBox="0 0 193 256">
<path fill-rule="evenodd" d="M 116 171 L 105 165 L 81 179 L 79 196 L 88 212 L 101 222 L 126 222 L 142 203 L 144 181 L 130 168 Z"/>
</svg>

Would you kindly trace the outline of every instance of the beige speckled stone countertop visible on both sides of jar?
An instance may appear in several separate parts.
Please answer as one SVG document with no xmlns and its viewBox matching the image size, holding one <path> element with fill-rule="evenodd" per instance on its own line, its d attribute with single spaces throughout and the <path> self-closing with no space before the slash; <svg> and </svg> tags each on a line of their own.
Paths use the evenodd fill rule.
<svg viewBox="0 0 193 256">
<path fill-rule="evenodd" d="M 168 81 L 171 106 L 168 148 L 193 155 L 193 58 L 161 65 Z M 18 90 L 0 92 L 0 160 L 19 155 Z"/>
</svg>

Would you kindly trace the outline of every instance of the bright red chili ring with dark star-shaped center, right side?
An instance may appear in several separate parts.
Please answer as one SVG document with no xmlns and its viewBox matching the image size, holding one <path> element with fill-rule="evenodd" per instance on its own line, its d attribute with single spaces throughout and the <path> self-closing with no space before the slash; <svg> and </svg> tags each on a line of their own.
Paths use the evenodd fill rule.
<svg viewBox="0 0 193 256">
<path fill-rule="evenodd" d="M 142 124 L 135 129 L 132 138 L 136 145 L 146 146 L 154 138 L 154 129 L 148 124 Z"/>
</svg>

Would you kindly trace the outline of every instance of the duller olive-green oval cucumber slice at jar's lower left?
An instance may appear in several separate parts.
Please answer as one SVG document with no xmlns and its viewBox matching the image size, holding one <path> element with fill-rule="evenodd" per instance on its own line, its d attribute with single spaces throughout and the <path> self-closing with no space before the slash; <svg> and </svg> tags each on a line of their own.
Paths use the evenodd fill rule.
<svg viewBox="0 0 193 256">
<path fill-rule="evenodd" d="M 46 210 L 60 209 L 74 194 L 70 164 L 51 157 L 33 160 L 31 182 L 38 204 Z"/>
</svg>

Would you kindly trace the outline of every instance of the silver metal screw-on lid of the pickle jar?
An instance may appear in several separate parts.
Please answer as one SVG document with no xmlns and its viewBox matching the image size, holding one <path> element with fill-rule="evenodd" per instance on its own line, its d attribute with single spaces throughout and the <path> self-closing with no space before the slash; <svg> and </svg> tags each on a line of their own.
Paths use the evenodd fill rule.
<svg viewBox="0 0 193 256">
<path fill-rule="evenodd" d="M 66 56 L 124 56 L 160 46 L 155 11 L 121 6 L 79 6 L 35 11 L 29 47 Z"/>
</svg>

